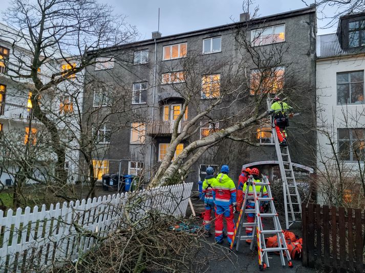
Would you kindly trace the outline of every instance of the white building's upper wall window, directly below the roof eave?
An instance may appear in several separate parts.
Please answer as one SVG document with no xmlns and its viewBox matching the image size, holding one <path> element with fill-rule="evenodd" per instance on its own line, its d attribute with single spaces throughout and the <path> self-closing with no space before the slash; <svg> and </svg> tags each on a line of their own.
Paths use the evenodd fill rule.
<svg viewBox="0 0 365 273">
<path fill-rule="evenodd" d="M 337 105 L 364 103 L 364 71 L 337 73 Z"/>
</svg>

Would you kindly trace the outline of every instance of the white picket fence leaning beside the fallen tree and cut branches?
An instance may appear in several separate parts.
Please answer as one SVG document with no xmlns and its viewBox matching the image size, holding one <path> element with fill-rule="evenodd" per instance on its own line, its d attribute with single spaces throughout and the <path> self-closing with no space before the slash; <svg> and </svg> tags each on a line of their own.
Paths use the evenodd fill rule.
<svg viewBox="0 0 365 273">
<path fill-rule="evenodd" d="M 79 257 L 97 243 L 91 233 L 100 238 L 121 228 L 126 207 L 132 208 L 133 220 L 149 210 L 185 216 L 191 188 L 192 183 L 173 185 L 57 203 L 49 210 L 45 205 L 18 208 L 15 214 L 0 210 L 0 272 L 35 272 Z"/>
</svg>

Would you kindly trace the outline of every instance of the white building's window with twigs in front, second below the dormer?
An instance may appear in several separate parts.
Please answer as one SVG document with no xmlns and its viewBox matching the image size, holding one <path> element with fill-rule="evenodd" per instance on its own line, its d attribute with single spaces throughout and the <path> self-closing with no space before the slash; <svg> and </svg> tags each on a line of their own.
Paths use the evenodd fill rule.
<svg viewBox="0 0 365 273">
<path fill-rule="evenodd" d="M 341 160 L 365 159 L 365 129 L 338 129 L 338 153 Z"/>
</svg>

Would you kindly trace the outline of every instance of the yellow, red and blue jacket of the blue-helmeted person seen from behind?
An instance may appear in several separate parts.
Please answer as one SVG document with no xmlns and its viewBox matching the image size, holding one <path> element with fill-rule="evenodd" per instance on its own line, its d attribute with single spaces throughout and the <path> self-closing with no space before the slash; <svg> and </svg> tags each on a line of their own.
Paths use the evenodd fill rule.
<svg viewBox="0 0 365 273">
<path fill-rule="evenodd" d="M 217 206 L 228 207 L 236 205 L 236 189 L 232 179 L 225 173 L 219 173 L 217 182 L 214 183 L 213 190 L 214 204 Z"/>
</svg>

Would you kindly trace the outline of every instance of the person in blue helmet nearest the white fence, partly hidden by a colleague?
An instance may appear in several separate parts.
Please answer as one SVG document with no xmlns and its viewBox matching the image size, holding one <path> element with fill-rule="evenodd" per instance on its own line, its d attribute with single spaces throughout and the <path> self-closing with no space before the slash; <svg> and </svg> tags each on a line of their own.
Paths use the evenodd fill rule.
<svg viewBox="0 0 365 273">
<path fill-rule="evenodd" d="M 204 196 L 204 205 L 205 205 L 205 213 L 203 219 L 203 226 L 206 231 L 206 237 L 210 237 L 212 233 L 210 232 L 210 216 L 211 211 L 214 213 L 214 202 L 212 189 L 214 184 L 216 184 L 217 179 L 214 177 L 214 169 L 212 167 L 207 167 L 206 169 L 207 176 L 203 181 L 203 196 Z"/>
</svg>

